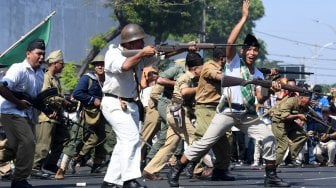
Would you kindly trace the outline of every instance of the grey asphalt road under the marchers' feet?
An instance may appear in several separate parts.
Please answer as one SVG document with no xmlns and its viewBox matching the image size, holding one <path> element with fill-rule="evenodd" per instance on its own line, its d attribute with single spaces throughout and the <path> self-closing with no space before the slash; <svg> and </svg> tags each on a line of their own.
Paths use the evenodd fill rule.
<svg viewBox="0 0 336 188">
<path fill-rule="evenodd" d="M 336 186 L 336 167 L 315 167 L 315 168 L 279 168 L 281 173 L 278 176 L 291 182 L 292 187 L 319 188 Z M 165 177 L 161 181 L 149 181 L 139 178 L 138 180 L 148 188 L 166 188 L 167 169 L 160 174 Z M 180 180 L 180 188 L 219 188 L 219 187 L 263 187 L 264 170 L 254 170 L 250 166 L 236 167 L 231 171 L 236 177 L 232 182 L 214 182 L 199 179 L 186 179 L 183 175 Z M 29 182 L 36 188 L 63 188 L 77 187 L 76 183 L 86 183 L 85 187 L 97 188 L 103 182 L 104 174 L 90 174 L 88 167 L 79 168 L 76 174 L 68 174 L 64 180 L 39 180 L 30 179 Z M 10 187 L 10 181 L 0 180 L 0 187 Z"/>
</svg>

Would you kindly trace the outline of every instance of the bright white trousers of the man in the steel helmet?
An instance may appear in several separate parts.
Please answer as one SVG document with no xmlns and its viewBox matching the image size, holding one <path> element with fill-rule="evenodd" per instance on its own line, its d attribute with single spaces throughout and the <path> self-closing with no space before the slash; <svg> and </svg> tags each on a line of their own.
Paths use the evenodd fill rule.
<svg viewBox="0 0 336 188">
<path fill-rule="evenodd" d="M 125 102 L 127 110 L 121 109 L 120 101 L 114 97 L 103 97 L 101 109 L 112 126 L 117 143 L 111 156 L 104 181 L 123 185 L 127 180 L 141 177 L 140 171 L 140 123 L 136 103 Z"/>
</svg>

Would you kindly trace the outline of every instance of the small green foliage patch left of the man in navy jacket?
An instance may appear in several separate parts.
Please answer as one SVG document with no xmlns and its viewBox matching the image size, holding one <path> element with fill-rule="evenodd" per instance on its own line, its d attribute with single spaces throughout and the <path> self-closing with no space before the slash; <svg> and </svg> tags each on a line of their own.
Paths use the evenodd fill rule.
<svg viewBox="0 0 336 188">
<path fill-rule="evenodd" d="M 64 64 L 61 73 L 61 84 L 64 93 L 72 92 L 78 82 L 78 77 L 76 76 L 77 68 L 75 64 L 76 62 L 67 62 Z"/>
</svg>

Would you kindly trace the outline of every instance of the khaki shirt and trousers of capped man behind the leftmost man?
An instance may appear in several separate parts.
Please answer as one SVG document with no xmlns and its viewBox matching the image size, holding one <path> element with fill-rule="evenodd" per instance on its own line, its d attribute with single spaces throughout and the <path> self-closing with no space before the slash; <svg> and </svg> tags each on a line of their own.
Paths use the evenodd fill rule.
<svg viewBox="0 0 336 188">
<path fill-rule="evenodd" d="M 57 88 L 58 93 L 62 95 L 59 79 L 56 76 L 51 75 L 50 72 L 46 72 L 44 74 L 42 91 L 49 88 Z M 63 99 L 56 96 L 51 97 L 49 100 L 58 101 L 62 104 L 61 100 Z M 41 113 L 39 116 L 39 123 L 36 125 L 36 151 L 33 169 L 41 170 L 43 163 L 55 166 L 62 153 L 63 144 L 68 138 L 69 131 L 65 125 L 49 119 L 44 113 Z"/>
</svg>

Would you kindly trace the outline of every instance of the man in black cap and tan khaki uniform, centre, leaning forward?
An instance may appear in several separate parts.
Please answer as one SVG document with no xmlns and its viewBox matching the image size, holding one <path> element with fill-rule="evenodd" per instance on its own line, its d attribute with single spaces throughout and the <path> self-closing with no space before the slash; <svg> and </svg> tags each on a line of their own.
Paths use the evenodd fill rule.
<svg viewBox="0 0 336 188">
<path fill-rule="evenodd" d="M 150 180 L 161 180 L 158 175 L 162 168 L 179 146 L 181 139 L 189 145 L 194 140 L 195 119 L 194 104 L 197 82 L 203 67 L 202 57 L 195 52 L 189 52 L 186 57 L 188 70 L 174 84 L 171 103 L 167 105 L 168 130 L 163 146 L 143 170 L 143 176 Z"/>
</svg>

